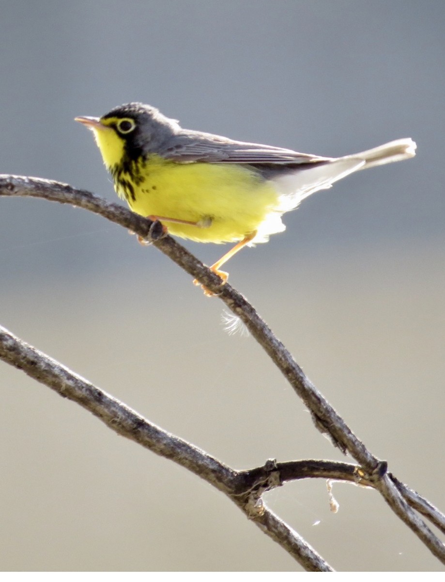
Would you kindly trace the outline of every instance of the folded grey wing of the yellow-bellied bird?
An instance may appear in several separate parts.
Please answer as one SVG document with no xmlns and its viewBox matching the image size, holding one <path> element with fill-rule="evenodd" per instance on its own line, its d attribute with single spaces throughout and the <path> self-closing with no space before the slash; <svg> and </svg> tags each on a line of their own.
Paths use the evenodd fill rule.
<svg viewBox="0 0 445 582">
<path fill-rule="evenodd" d="M 182 130 L 171 136 L 157 153 L 164 159 L 187 164 L 218 162 L 225 164 L 312 164 L 329 162 L 333 158 L 300 154 L 272 145 L 229 140 L 210 133 Z"/>
</svg>

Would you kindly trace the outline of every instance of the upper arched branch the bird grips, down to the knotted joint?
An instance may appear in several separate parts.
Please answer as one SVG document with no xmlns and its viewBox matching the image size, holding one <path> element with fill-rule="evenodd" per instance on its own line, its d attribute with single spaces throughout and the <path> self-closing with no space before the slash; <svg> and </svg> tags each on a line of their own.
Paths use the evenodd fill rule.
<svg viewBox="0 0 445 582">
<path fill-rule="evenodd" d="M 159 228 L 159 222 L 149 221 L 119 204 L 109 203 L 86 190 L 76 190 L 68 184 L 40 178 L 0 175 L 0 196 L 31 196 L 75 205 L 100 214 L 153 243 L 157 249 L 198 279 L 207 289 L 217 294 L 228 308 L 244 322 L 253 337 L 263 346 L 265 352 L 311 411 L 317 428 L 321 432 L 328 433 L 336 446 L 339 446 L 343 452 L 349 452 L 369 473 L 376 469 L 379 460 L 371 455 L 363 442 L 353 434 L 333 407 L 317 391 L 292 355 L 275 337 L 245 297 L 232 288 L 229 283 L 221 285 L 221 279 L 205 267 L 202 262 L 193 257 L 171 236 L 164 236 L 162 229 Z"/>
</svg>

